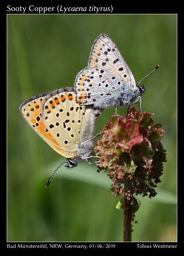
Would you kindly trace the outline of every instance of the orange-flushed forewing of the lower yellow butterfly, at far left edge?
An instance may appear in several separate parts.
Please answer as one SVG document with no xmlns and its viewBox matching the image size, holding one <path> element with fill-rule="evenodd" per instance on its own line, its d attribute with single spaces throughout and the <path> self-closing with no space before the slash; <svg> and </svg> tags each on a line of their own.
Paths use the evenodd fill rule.
<svg viewBox="0 0 184 256">
<path fill-rule="evenodd" d="M 40 94 L 29 100 L 23 102 L 20 106 L 20 111 L 23 118 L 29 126 L 43 139 L 45 142 L 56 150 L 59 154 L 63 155 L 63 150 L 57 141 L 52 137 L 51 133 L 46 128 L 42 115 L 41 106 L 45 101 L 48 93 Z"/>
</svg>

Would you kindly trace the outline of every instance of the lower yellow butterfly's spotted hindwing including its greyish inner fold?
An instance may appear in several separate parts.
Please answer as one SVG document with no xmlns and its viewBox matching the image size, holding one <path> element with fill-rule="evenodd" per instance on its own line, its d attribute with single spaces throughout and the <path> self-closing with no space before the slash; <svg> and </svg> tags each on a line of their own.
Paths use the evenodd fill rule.
<svg viewBox="0 0 184 256">
<path fill-rule="evenodd" d="M 42 115 L 52 137 L 63 150 L 73 152 L 75 156 L 79 142 L 93 136 L 96 124 L 94 111 L 75 101 L 72 87 L 50 92 L 42 106 Z"/>
</svg>

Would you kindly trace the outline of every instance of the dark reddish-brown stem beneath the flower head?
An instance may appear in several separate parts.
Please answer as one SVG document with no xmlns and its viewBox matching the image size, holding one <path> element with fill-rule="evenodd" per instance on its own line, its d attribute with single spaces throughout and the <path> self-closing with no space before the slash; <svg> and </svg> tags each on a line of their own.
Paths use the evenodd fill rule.
<svg viewBox="0 0 184 256">
<path fill-rule="evenodd" d="M 123 238 L 124 242 L 131 242 L 132 240 L 132 198 L 124 201 L 124 225 L 123 225 Z"/>
</svg>

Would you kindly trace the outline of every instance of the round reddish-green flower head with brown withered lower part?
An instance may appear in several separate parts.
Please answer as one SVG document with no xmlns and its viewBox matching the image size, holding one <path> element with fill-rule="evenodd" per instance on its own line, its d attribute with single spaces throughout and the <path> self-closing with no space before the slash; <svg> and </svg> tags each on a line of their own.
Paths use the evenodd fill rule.
<svg viewBox="0 0 184 256">
<path fill-rule="evenodd" d="M 160 142 L 162 125 L 154 124 L 153 115 L 131 107 L 126 117 L 111 116 L 102 130 L 95 151 L 102 158 L 99 169 L 105 169 L 113 180 L 111 191 L 116 196 L 130 199 L 133 194 L 156 195 L 166 150 Z"/>
</svg>

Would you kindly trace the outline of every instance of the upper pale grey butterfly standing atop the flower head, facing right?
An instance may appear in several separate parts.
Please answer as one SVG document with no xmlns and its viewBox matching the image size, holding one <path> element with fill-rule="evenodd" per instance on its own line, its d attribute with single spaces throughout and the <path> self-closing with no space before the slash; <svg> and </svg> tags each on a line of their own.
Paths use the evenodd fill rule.
<svg viewBox="0 0 184 256">
<path fill-rule="evenodd" d="M 114 105 L 116 112 L 117 106 L 127 105 L 129 109 L 130 104 L 140 99 L 141 110 L 144 91 L 144 86 L 136 85 L 130 68 L 113 40 L 106 34 L 100 34 L 92 46 L 88 66 L 76 76 L 76 100 L 81 106 L 93 104 L 94 109 L 102 113 L 104 108 Z"/>
</svg>

